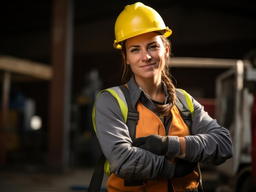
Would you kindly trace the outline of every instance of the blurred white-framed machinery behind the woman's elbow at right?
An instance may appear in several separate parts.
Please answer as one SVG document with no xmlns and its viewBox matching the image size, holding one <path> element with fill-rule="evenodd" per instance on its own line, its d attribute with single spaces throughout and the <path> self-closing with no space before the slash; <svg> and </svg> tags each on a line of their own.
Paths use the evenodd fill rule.
<svg viewBox="0 0 256 192">
<path fill-rule="evenodd" d="M 254 66 L 255 67 L 255 66 Z M 238 60 L 216 79 L 217 120 L 229 129 L 234 157 L 218 166 L 219 172 L 231 179 L 228 188 L 236 192 L 256 191 L 255 124 L 256 68 Z M 254 119 L 253 119 L 254 118 Z M 253 158 L 254 157 L 254 158 Z M 220 191 L 227 191 L 225 187 Z"/>
</svg>

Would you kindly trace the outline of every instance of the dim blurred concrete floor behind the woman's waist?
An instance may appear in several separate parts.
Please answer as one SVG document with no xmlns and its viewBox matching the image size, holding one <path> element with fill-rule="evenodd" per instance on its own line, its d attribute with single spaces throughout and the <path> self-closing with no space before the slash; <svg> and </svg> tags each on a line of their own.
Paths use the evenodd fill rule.
<svg viewBox="0 0 256 192">
<path fill-rule="evenodd" d="M 0 192 L 86 192 L 94 168 L 67 170 L 64 173 L 30 171 L 0 171 Z M 108 176 L 104 174 L 102 190 L 106 192 Z M 202 171 L 205 192 L 215 192 L 218 177 L 214 172 Z"/>
</svg>

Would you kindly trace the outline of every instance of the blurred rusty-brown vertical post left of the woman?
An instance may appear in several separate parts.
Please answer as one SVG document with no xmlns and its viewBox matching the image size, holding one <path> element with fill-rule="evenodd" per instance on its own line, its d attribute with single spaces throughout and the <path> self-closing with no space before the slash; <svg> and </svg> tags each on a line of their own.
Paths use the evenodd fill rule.
<svg viewBox="0 0 256 192">
<path fill-rule="evenodd" d="M 49 163 L 62 168 L 68 164 L 69 105 L 72 60 L 72 0 L 53 1 L 52 58 L 53 77 L 49 104 Z M 71 35 L 70 35 L 71 34 Z"/>
</svg>

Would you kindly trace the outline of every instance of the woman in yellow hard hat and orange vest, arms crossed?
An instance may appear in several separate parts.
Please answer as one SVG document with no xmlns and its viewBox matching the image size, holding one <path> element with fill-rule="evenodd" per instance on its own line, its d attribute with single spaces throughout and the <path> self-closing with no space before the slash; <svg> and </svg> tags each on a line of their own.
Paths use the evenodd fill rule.
<svg viewBox="0 0 256 192">
<path fill-rule="evenodd" d="M 172 31 L 152 8 L 137 2 L 115 23 L 114 47 L 121 49 L 132 106 L 139 111 L 136 139 L 129 135 L 119 103 L 121 90 L 99 94 L 93 112 L 102 151 L 109 162 L 109 192 L 200 191 L 198 163 L 219 165 L 231 158 L 227 129 L 191 96 L 191 131 L 177 108 L 177 89 L 168 72 Z"/>
</svg>

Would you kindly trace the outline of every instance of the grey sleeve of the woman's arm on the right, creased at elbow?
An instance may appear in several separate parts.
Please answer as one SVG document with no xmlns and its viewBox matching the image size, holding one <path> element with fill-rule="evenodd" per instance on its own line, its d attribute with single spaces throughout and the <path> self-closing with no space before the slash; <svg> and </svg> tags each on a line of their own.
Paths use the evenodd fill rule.
<svg viewBox="0 0 256 192">
<path fill-rule="evenodd" d="M 186 156 L 192 162 L 220 165 L 233 156 L 229 131 L 218 125 L 193 97 L 191 136 L 186 136 Z"/>
</svg>

